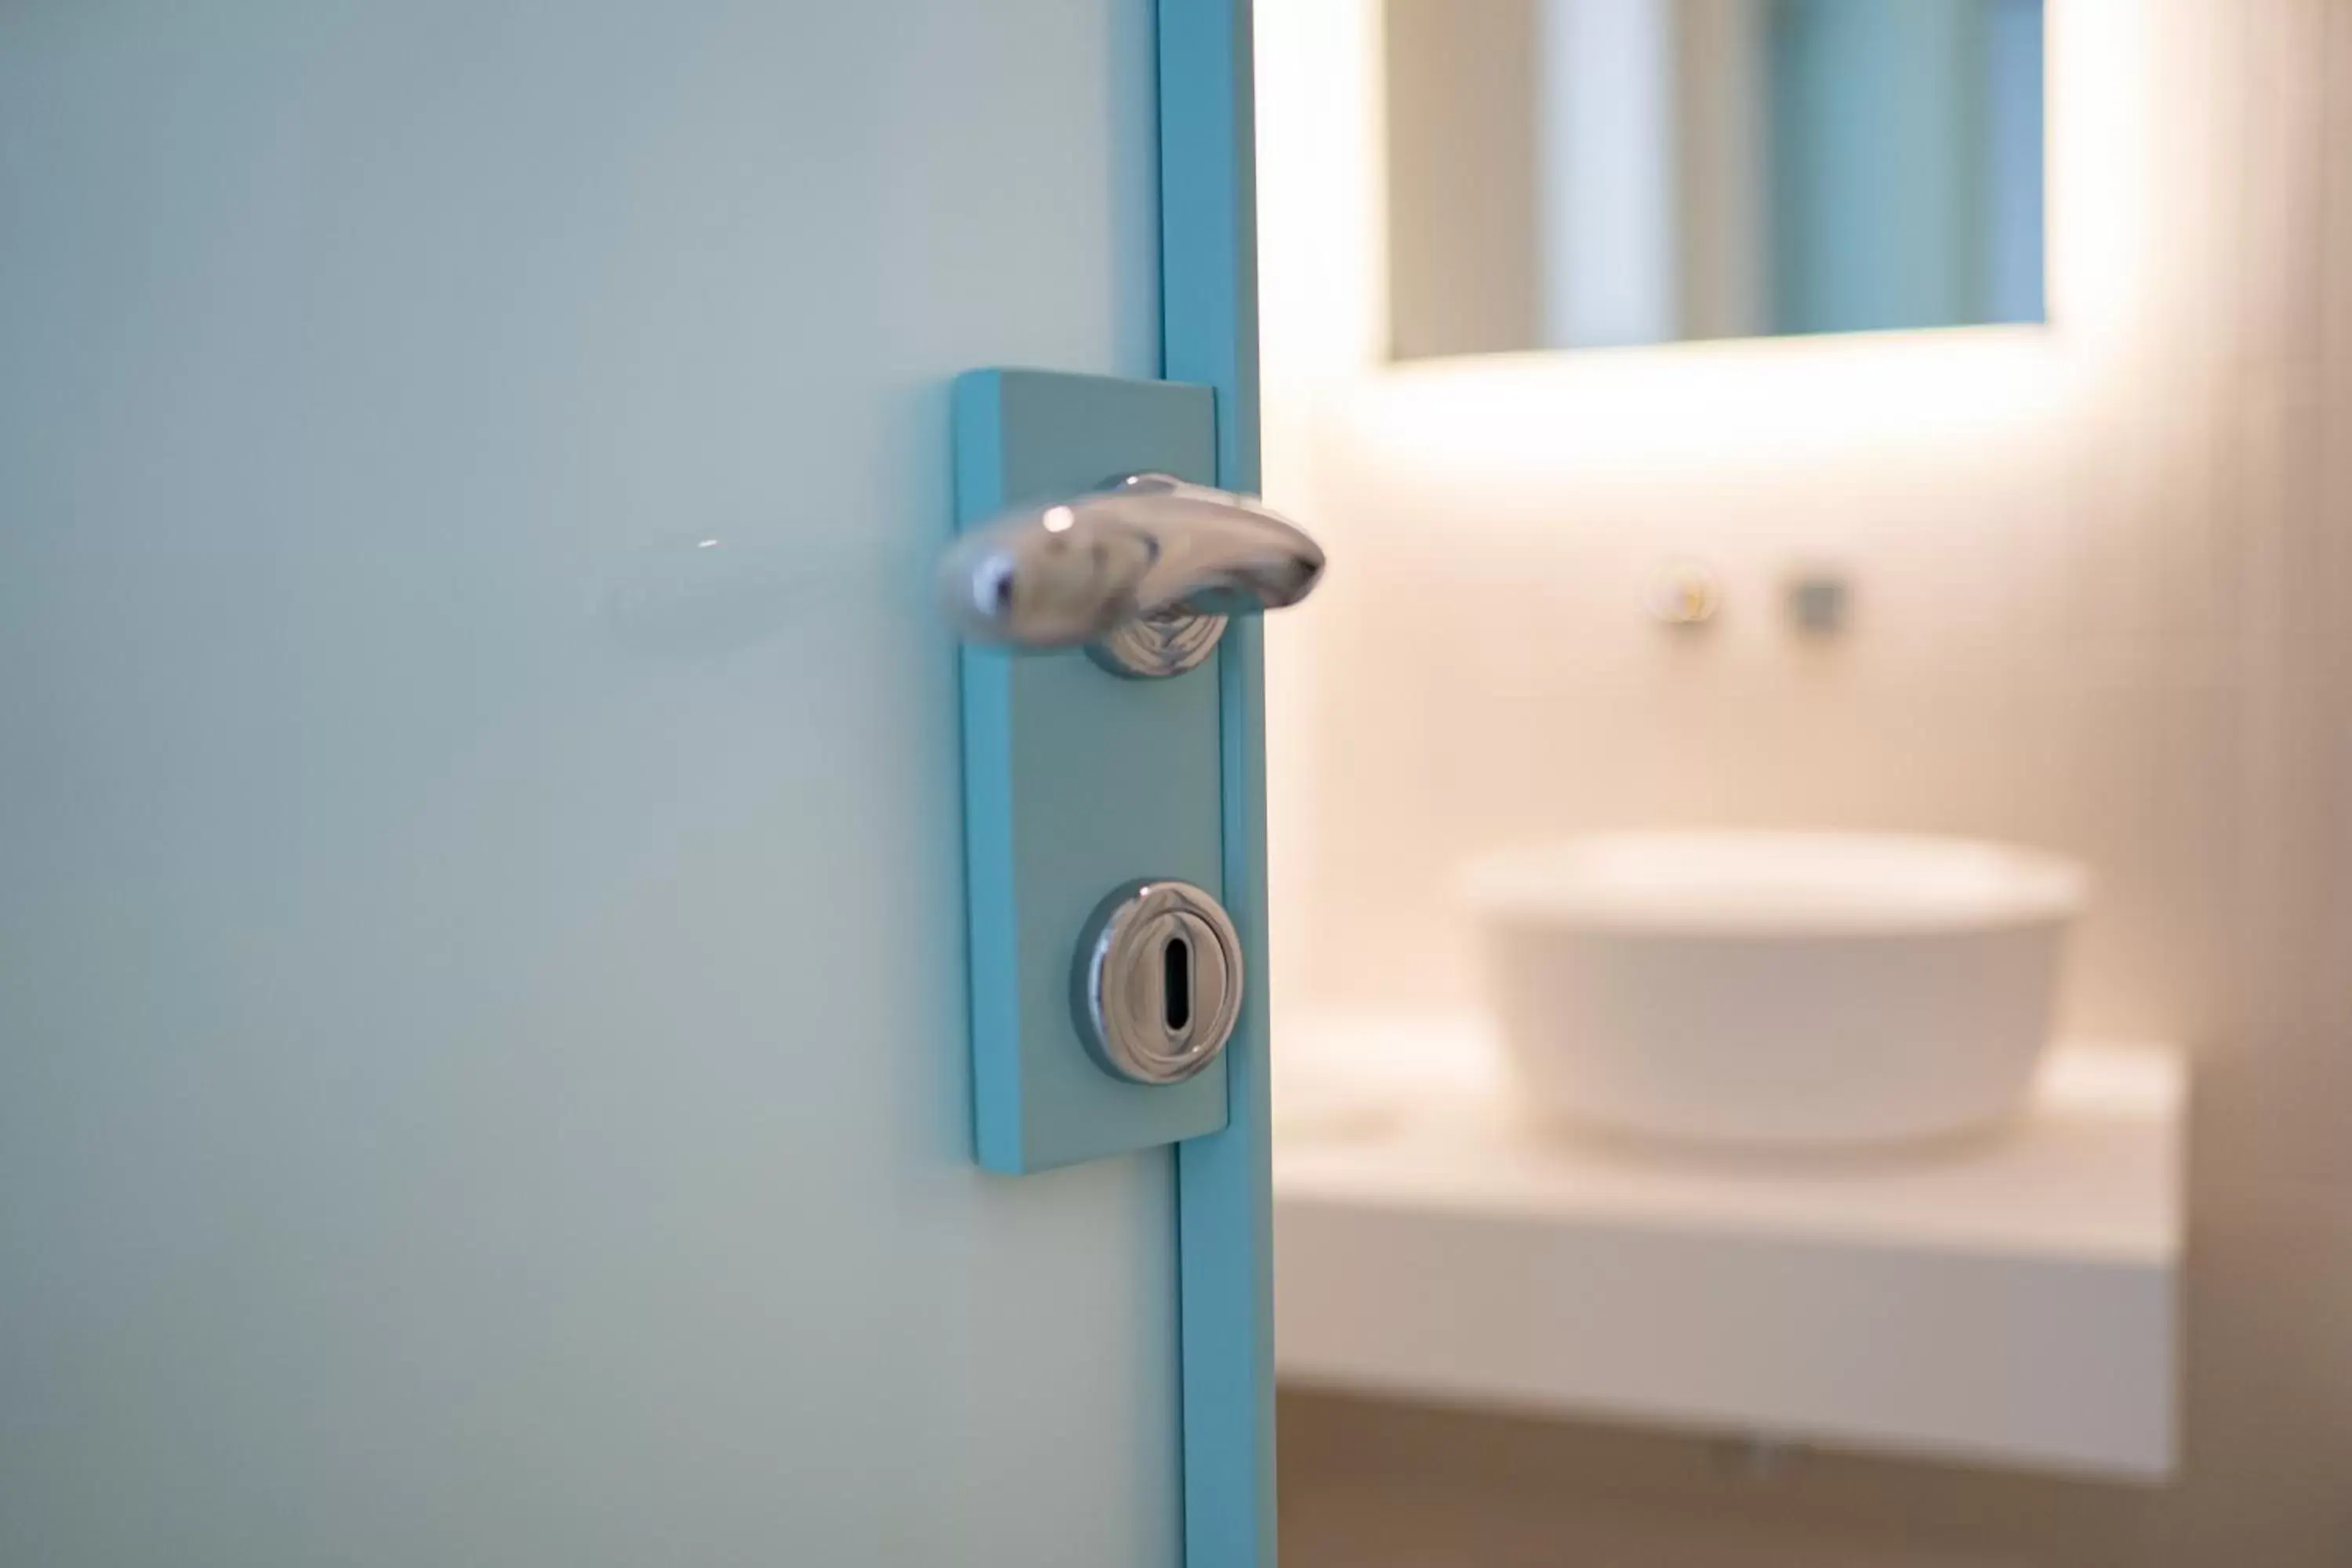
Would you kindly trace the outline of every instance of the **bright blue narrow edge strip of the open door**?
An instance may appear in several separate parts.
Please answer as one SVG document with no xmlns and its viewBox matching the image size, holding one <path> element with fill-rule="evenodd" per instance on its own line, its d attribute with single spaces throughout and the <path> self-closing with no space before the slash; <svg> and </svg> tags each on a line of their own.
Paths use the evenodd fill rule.
<svg viewBox="0 0 2352 1568">
<path fill-rule="evenodd" d="M 1216 393 L 1218 484 L 1258 489 L 1251 0 L 1160 0 L 1160 374 Z M 1272 1138 L 1265 1009 L 1265 656 L 1218 651 L 1225 907 L 1249 985 L 1223 1133 L 1176 1145 L 1185 1568 L 1275 1568 Z"/>
</svg>

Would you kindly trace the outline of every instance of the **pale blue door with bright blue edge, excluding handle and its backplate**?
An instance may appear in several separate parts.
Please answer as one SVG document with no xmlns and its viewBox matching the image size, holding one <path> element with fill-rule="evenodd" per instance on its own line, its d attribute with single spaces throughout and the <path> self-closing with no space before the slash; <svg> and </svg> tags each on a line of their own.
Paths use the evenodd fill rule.
<svg viewBox="0 0 2352 1568">
<path fill-rule="evenodd" d="M 0 9 L 0 1563 L 1270 1561 L 1261 1013 L 976 1166 L 929 592 L 960 371 L 1247 484 L 1235 9 Z"/>
</svg>

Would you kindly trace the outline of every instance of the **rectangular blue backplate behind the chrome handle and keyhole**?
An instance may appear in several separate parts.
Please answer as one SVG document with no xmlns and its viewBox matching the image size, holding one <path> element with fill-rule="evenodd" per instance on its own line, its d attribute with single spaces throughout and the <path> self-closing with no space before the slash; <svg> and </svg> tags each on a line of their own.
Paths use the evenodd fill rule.
<svg viewBox="0 0 2352 1568">
<path fill-rule="evenodd" d="M 957 517 L 1127 473 L 1216 480 L 1216 397 L 1171 381 L 974 371 L 955 383 Z M 1070 1018 L 1070 959 L 1124 882 L 1225 879 L 1216 661 L 1134 682 L 1077 649 L 967 646 L 964 898 L 971 910 L 974 1140 L 990 1171 L 1042 1171 L 1225 1126 L 1225 1065 L 1122 1084 Z"/>
</svg>

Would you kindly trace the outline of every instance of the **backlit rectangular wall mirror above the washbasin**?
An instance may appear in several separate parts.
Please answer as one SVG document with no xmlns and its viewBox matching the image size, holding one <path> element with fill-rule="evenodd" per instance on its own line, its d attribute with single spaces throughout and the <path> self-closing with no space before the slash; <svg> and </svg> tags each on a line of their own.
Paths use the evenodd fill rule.
<svg viewBox="0 0 2352 1568">
<path fill-rule="evenodd" d="M 1390 353 L 2039 322 L 2042 0 L 1388 0 Z"/>
</svg>

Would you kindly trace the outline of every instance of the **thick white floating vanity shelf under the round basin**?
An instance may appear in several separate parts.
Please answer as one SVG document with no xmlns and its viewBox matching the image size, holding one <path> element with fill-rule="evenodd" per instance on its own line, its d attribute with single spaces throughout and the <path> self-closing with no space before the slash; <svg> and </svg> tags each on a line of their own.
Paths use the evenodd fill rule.
<svg viewBox="0 0 2352 1568">
<path fill-rule="evenodd" d="M 1277 1079 L 1287 1382 L 2173 1469 L 2169 1051 L 2053 1051 L 1999 1138 L 1743 1159 L 1538 1131 L 1475 1025 L 1291 1027 L 1282 1048 L 1308 1063 Z"/>
</svg>

